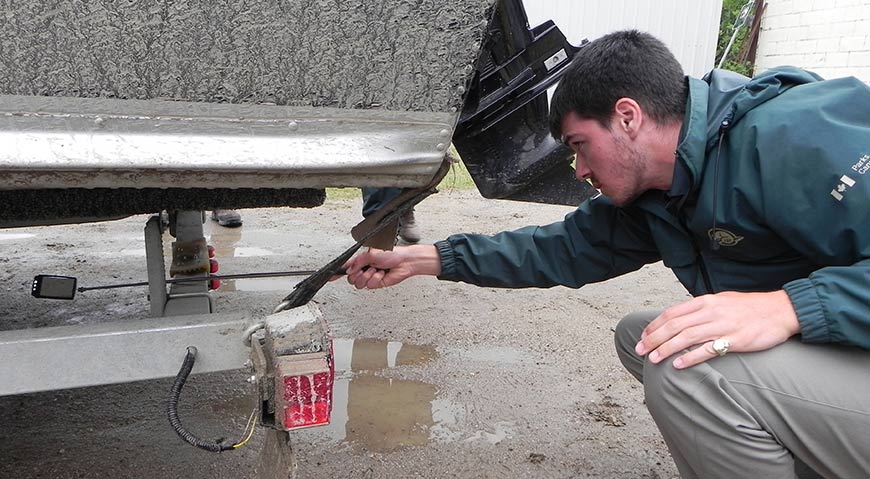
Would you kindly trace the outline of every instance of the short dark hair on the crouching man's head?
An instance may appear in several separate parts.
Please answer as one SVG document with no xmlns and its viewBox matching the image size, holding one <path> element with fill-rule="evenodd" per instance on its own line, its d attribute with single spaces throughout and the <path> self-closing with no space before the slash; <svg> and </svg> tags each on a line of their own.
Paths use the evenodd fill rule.
<svg viewBox="0 0 870 479">
<path fill-rule="evenodd" d="M 624 30 L 598 38 L 574 55 L 550 102 L 550 134 L 561 140 L 571 112 L 609 128 L 613 107 L 631 98 L 659 123 L 681 120 L 687 87 L 683 69 L 661 40 Z"/>
</svg>

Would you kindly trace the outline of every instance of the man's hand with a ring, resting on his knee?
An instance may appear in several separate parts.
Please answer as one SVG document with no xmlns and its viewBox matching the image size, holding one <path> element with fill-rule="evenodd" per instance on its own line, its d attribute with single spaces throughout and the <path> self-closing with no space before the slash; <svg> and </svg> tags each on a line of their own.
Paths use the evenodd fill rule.
<svg viewBox="0 0 870 479">
<path fill-rule="evenodd" d="M 785 291 L 724 292 L 666 309 L 644 329 L 635 352 L 641 356 L 649 353 L 649 360 L 658 363 L 691 349 L 674 360 L 674 367 L 683 369 L 716 357 L 716 339 L 727 339 L 731 352 L 763 351 L 799 332 L 797 315 Z"/>
</svg>

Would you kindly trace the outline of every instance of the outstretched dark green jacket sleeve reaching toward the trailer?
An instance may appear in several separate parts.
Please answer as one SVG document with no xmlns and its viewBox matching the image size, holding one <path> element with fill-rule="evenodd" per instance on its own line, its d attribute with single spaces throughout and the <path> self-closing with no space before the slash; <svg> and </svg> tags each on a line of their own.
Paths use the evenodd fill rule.
<svg viewBox="0 0 870 479">
<path fill-rule="evenodd" d="M 579 288 L 658 261 L 643 213 L 603 196 L 564 220 L 494 236 L 460 234 L 439 241 L 439 279 L 500 288 Z"/>
</svg>

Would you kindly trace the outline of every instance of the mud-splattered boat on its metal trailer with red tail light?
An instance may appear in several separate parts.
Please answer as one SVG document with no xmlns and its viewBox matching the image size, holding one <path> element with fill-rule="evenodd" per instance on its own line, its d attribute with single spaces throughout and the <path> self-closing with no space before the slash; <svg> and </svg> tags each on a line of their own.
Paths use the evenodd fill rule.
<svg viewBox="0 0 870 479">
<path fill-rule="evenodd" d="M 141 287 L 150 316 L 0 317 L 0 395 L 176 377 L 172 427 L 230 450 L 243 442 L 201 441 L 172 403 L 190 373 L 250 368 L 261 404 L 250 427 L 289 444 L 287 431 L 331 410 L 332 339 L 308 301 L 359 247 L 392 247 L 451 144 L 485 197 L 578 204 L 593 192 L 547 130 L 546 90 L 582 46 L 552 21 L 529 26 L 519 0 L 32 0 L 8 5 L 0 26 L 0 227 L 58 225 L 62 237 L 63 224 L 149 215 L 147 277 L 100 287 Z M 272 314 L 218 311 L 203 211 L 315 208 L 326 187 L 404 193 Z M 36 274 L 29 293 L 74 304 L 99 289 L 79 282 L 99 280 Z"/>
</svg>

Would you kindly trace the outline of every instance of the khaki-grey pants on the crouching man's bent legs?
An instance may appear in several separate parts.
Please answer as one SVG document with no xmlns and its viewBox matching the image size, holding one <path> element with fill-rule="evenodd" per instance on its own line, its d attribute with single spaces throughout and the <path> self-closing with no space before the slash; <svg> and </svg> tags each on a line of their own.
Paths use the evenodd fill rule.
<svg viewBox="0 0 870 479">
<path fill-rule="evenodd" d="M 870 351 L 792 338 L 677 370 L 634 352 L 657 315 L 623 318 L 616 350 L 683 478 L 794 478 L 796 460 L 824 477 L 870 477 Z"/>
</svg>

